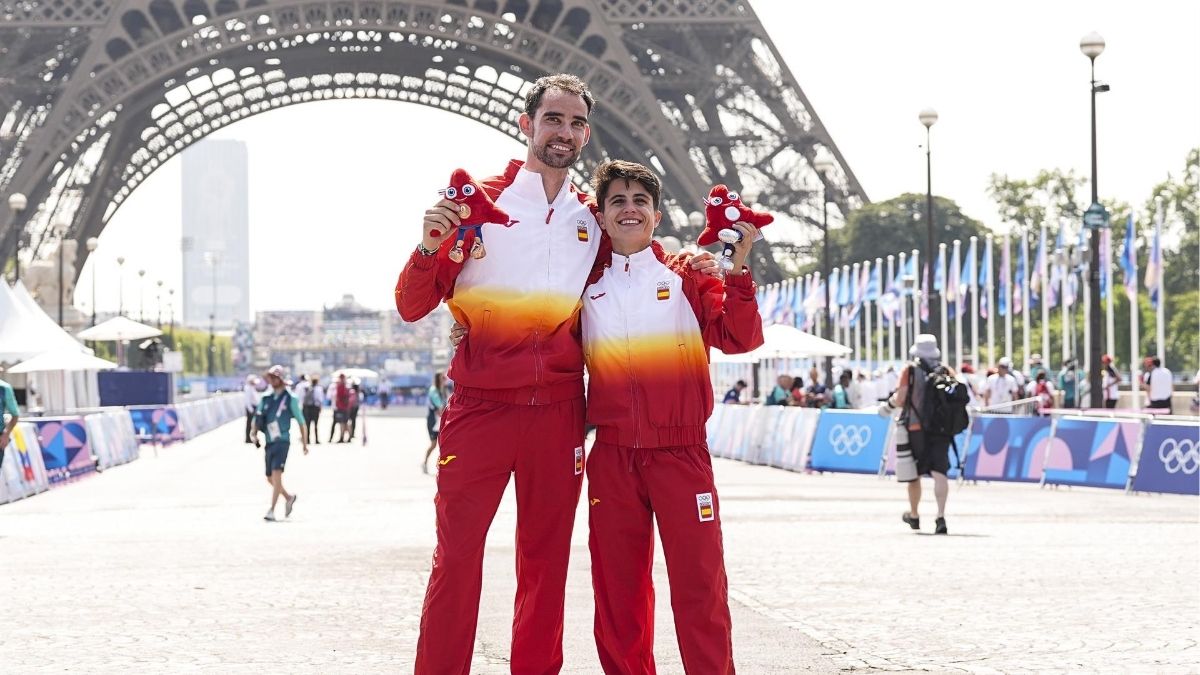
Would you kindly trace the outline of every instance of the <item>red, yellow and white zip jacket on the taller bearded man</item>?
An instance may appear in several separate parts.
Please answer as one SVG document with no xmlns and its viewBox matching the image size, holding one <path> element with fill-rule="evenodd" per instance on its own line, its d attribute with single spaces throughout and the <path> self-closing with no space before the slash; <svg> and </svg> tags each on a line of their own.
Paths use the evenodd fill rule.
<svg viewBox="0 0 1200 675">
<path fill-rule="evenodd" d="M 517 160 L 480 183 L 516 223 L 484 226 L 482 259 L 451 262 L 455 237 L 436 256 L 414 251 L 396 282 L 396 309 L 418 321 L 444 299 L 467 327 L 450 363 L 456 392 L 529 405 L 578 398 L 580 295 L 601 240 L 587 195 L 566 180 L 547 204 L 541 175 Z M 467 250 L 473 240 L 468 231 Z"/>
</svg>

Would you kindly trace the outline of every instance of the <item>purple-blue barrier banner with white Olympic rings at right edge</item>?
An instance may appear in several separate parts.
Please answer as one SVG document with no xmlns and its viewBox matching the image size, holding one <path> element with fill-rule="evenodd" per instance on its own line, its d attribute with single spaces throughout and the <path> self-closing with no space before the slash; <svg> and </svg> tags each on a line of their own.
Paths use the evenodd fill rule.
<svg viewBox="0 0 1200 675">
<path fill-rule="evenodd" d="M 1200 426 L 1154 420 L 1146 428 L 1133 489 L 1200 495 Z"/>
</svg>

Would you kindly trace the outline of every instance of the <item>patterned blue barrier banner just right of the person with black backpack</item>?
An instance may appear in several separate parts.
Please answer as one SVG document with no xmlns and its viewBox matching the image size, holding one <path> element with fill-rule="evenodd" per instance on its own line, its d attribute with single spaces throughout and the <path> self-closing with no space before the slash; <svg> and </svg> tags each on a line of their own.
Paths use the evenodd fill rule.
<svg viewBox="0 0 1200 675">
<path fill-rule="evenodd" d="M 1043 417 L 979 414 L 971 419 L 971 444 L 962 462 L 971 480 L 1042 480 L 1050 442 L 1050 420 Z"/>
</svg>

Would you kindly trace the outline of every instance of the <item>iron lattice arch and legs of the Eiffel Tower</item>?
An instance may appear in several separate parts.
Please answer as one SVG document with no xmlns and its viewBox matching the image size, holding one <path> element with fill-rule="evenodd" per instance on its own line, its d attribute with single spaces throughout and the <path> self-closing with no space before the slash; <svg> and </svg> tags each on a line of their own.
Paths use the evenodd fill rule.
<svg viewBox="0 0 1200 675">
<path fill-rule="evenodd" d="M 0 0 L 0 201 L 29 204 L 0 202 L 0 252 L 48 255 L 55 223 L 98 235 L 163 162 L 286 106 L 419 103 L 523 141 L 523 91 L 552 72 L 598 98 L 577 178 L 650 163 L 665 233 L 694 239 L 715 183 L 809 223 L 826 189 L 833 223 L 866 202 L 745 0 Z M 756 251 L 773 281 L 796 249 Z"/>
</svg>

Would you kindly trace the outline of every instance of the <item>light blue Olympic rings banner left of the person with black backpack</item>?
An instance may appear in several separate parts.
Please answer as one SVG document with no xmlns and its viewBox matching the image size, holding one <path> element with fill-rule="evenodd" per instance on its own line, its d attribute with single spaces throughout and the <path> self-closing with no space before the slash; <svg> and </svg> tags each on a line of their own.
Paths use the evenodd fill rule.
<svg viewBox="0 0 1200 675">
<path fill-rule="evenodd" d="M 821 411 L 812 437 L 812 468 L 878 473 L 890 425 L 890 419 L 874 411 Z"/>
</svg>

